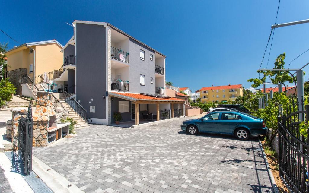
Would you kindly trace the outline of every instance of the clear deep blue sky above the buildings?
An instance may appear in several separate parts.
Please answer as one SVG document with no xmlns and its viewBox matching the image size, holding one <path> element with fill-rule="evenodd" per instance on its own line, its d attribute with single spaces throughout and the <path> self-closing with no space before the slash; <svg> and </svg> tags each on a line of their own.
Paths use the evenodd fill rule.
<svg viewBox="0 0 309 193">
<path fill-rule="evenodd" d="M 192 91 L 256 78 L 278 1 L 5 1 L 3 31 L 20 43 L 72 36 L 74 19 L 108 22 L 165 54 L 166 80 Z M 281 0 L 277 23 L 309 19 L 308 1 Z M 286 65 L 309 48 L 309 23 L 275 30 L 268 67 L 286 52 Z M 0 32 L 0 42 L 19 45 Z M 269 43 L 270 46 L 270 43 Z M 266 68 L 269 48 L 262 68 Z M 307 62 L 309 51 L 290 68 Z M 287 68 L 287 66 L 286 66 Z M 305 80 L 308 80 L 309 67 Z"/>
</svg>

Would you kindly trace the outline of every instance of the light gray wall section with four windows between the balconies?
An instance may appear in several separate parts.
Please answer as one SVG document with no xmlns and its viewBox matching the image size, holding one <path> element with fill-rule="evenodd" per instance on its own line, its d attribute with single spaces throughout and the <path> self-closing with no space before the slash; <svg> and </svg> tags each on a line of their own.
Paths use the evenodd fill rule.
<svg viewBox="0 0 309 193">
<path fill-rule="evenodd" d="M 139 51 L 145 51 L 145 61 L 139 58 Z M 155 52 L 139 42 L 129 39 L 130 92 L 155 94 Z M 150 60 L 153 55 L 153 61 Z M 145 75 L 145 86 L 140 85 L 140 74 Z M 150 83 L 150 77 L 154 83 Z"/>
</svg>

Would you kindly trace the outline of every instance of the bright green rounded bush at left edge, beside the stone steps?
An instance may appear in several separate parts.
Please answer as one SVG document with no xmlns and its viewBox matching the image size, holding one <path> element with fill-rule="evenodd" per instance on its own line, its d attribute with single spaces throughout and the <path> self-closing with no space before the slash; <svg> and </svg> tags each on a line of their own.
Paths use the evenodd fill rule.
<svg viewBox="0 0 309 193">
<path fill-rule="evenodd" d="M 5 105 L 6 102 L 12 99 L 15 89 L 15 86 L 9 82 L 9 78 L 0 81 L 0 106 Z"/>
</svg>

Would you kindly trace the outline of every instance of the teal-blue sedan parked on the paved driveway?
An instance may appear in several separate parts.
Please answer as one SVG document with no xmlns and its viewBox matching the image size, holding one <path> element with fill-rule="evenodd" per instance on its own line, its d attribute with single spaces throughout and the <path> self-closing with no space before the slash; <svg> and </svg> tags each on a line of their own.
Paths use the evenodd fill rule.
<svg viewBox="0 0 309 193">
<path fill-rule="evenodd" d="M 190 135 L 198 132 L 234 135 L 240 140 L 265 135 L 265 121 L 255 116 L 231 111 L 211 112 L 202 118 L 184 121 L 181 129 Z"/>
</svg>

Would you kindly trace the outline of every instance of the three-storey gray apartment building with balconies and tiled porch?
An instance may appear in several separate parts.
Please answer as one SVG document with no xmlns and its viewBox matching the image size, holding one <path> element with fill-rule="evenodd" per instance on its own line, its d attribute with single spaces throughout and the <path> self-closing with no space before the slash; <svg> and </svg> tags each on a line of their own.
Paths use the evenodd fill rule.
<svg viewBox="0 0 309 193">
<path fill-rule="evenodd" d="M 62 49 L 67 81 L 92 123 L 162 120 L 183 115 L 185 100 L 166 95 L 166 56 L 105 22 L 75 20 Z M 70 62 L 70 61 L 74 61 Z M 64 80 L 64 79 L 63 79 Z M 62 81 L 63 81 L 62 80 Z"/>
</svg>

